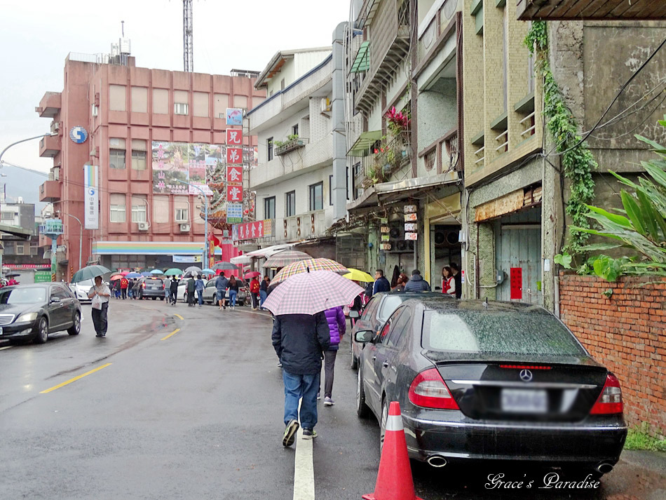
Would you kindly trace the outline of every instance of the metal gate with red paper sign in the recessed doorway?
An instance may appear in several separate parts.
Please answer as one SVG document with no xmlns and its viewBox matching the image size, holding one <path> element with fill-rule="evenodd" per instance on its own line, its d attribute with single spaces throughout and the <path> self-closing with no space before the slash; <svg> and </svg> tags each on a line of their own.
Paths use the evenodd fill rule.
<svg viewBox="0 0 666 500">
<path fill-rule="evenodd" d="M 503 279 L 498 300 L 543 304 L 541 290 L 541 207 L 495 222 L 495 258 Z"/>
</svg>

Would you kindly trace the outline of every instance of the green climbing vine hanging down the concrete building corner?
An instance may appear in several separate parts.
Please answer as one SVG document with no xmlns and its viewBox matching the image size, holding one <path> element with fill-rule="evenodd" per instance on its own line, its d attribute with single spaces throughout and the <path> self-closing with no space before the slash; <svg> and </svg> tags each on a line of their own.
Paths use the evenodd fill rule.
<svg viewBox="0 0 666 500">
<path fill-rule="evenodd" d="M 578 123 L 571 110 L 566 107 L 562 91 L 555 81 L 548 60 L 548 31 L 545 21 L 532 22 L 525 37 L 525 45 L 536 58 L 536 69 L 543 78 L 543 114 L 546 126 L 557 143 L 555 151 L 562 156 L 564 177 L 569 179 L 571 194 L 566 203 L 566 213 L 571 216 L 573 226 L 589 229 L 589 210 L 585 206 L 594 200 L 592 170 L 597 168 L 592 152 L 578 133 Z M 564 249 L 576 255 L 587 242 L 589 234 L 569 229 L 569 243 Z"/>
</svg>

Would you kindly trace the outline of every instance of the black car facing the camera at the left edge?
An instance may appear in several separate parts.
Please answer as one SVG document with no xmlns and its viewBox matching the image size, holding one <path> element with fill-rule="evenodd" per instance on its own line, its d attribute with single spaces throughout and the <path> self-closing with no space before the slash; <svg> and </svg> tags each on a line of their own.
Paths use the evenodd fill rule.
<svg viewBox="0 0 666 500">
<path fill-rule="evenodd" d="M 43 344 L 50 333 L 81 331 L 81 304 L 62 283 L 0 289 L 0 339 Z"/>
</svg>

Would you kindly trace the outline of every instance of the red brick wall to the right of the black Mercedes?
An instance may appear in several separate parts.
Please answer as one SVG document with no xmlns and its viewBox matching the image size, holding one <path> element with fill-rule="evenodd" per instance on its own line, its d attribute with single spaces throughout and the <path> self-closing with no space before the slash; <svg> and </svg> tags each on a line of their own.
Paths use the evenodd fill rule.
<svg viewBox="0 0 666 500">
<path fill-rule="evenodd" d="M 564 323 L 620 379 L 627 422 L 666 434 L 666 278 L 563 274 L 559 297 Z"/>
</svg>

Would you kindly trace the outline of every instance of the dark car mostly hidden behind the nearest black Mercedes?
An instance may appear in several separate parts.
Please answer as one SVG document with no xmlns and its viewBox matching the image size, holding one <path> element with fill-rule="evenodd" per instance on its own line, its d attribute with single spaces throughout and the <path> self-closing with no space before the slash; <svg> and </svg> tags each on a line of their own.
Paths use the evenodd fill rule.
<svg viewBox="0 0 666 500">
<path fill-rule="evenodd" d="M 388 316 L 393 314 L 405 300 L 413 299 L 414 297 L 432 297 L 433 299 L 452 300 L 450 295 L 442 292 L 383 292 L 376 293 L 365 305 L 360 313 L 360 318 L 354 323 L 353 330 L 349 336 L 351 342 L 351 367 L 356 370 L 358 367 L 358 356 L 362 351 L 365 344 L 354 342 L 354 333 L 359 330 L 372 330 L 379 332 L 379 329 L 386 323 Z"/>
</svg>

